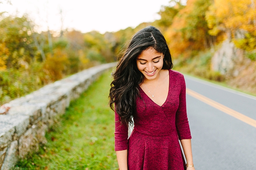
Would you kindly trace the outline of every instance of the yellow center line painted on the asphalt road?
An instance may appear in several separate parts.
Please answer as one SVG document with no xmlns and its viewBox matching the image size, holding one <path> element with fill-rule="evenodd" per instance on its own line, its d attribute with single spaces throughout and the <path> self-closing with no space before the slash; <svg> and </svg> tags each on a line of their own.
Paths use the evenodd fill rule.
<svg viewBox="0 0 256 170">
<path fill-rule="evenodd" d="M 234 118 L 236 119 L 239 119 L 253 127 L 256 128 L 256 120 L 252 119 L 252 118 L 249 118 L 247 117 L 246 115 L 244 114 L 241 114 L 239 112 L 236 112 L 234 111 L 233 109 L 230 109 L 226 106 L 224 106 L 223 104 L 220 104 L 218 102 L 215 102 L 213 101 L 212 99 L 209 99 L 208 97 L 205 97 L 197 92 L 194 92 L 193 90 L 190 90 L 190 89 L 186 89 L 187 91 L 187 94 L 206 103 L 206 104 L 209 104 L 210 106 L 216 108 L 216 109 L 219 109 L 220 111 L 226 113 L 226 114 L 229 114 L 230 116 L 233 116 Z"/>
</svg>

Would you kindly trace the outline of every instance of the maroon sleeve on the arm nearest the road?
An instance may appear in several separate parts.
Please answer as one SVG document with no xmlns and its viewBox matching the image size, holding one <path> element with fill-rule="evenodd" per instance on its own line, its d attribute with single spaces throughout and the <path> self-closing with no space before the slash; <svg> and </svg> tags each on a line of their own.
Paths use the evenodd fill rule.
<svg viewBox="0 0 256 170">
<path fill-rule="evenodd" d="M 180 140 L 191 139 L 186 108 L 186 83 L 183 75 L 180 79 L 180 87 L 180 102 L 176 112 L 175 125 Z"/>
</svg>

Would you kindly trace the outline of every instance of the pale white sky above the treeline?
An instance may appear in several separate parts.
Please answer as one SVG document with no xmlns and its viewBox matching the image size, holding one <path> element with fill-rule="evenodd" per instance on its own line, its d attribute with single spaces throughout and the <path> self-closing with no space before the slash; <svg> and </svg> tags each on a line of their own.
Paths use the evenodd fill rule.
<svg viewBox="0 0 256 170">
<path fill-rule="evenodd" d="M 160 19 L 157 12 L 170 0 L 10 0 L 12 5 L 0 1 L 0 12 L 17 16 L 27 13 L 37 32 L 48 28 L 59 32 L 63 26 L 82 33 L 105 33 Z"/>
</svg>

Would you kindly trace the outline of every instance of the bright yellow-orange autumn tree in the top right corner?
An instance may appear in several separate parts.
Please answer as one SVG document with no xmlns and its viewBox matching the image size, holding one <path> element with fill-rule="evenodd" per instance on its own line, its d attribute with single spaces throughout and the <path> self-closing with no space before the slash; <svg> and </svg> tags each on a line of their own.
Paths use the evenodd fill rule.
<svg viewBox="0 0 256 170">
<path fill-rule="evenodd" d="M 209 34 L 226 37 L 247 51 L 256 49 L 256 0 L 214 0 L 206 12 Z"/>
</svg>

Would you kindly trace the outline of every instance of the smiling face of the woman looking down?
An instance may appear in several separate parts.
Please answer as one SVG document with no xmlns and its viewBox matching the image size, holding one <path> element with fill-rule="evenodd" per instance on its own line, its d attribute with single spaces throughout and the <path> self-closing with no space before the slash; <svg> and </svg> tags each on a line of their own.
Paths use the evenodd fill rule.
<svg viewBox="0 0 256 170">
<path fill-rule="evenodd" d="M 144 80 L 154 80 L 164 64 L 163 53 L 157 52 L 154 48 L 142 51 L 137 58 L 137 67 L 144 75 Z"/>
</svg>

